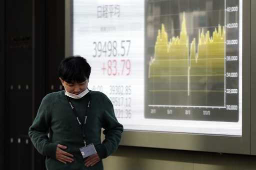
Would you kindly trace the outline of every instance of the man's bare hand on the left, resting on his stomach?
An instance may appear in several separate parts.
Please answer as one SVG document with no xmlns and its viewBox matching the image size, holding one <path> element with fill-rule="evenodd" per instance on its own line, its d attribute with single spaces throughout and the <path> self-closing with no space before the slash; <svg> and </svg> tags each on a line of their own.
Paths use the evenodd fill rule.
<svg viewBox="0 0 256 170">
<path fill-rule="evenodd" d="M 66 146 L 57 145 L 57 149 L 56 149 L 56 160 L 58 160 L 61 163 L 72 163 L 74 160 L 72 159 L 74 156 L 72 154 L 69 154 L 65 151 L 63 151 L 64 149 L 66 149 Z M 71 158 L 70 158 L 71 157 Z"/>
</svg>

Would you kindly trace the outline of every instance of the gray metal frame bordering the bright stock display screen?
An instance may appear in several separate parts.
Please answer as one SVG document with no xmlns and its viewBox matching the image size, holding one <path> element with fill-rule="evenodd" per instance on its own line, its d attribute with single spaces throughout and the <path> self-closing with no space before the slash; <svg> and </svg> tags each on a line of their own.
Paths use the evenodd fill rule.
<svg viewBox="0 0 256 170">
<path fill-rule="evenodd" d="M 73 0 L 65 7 L 72 17 Z M 204 135 L 124 130 L 120 145 L 204 151 L 231 154 L 250 154 L 250 0 L 242 2 L 242 136 Z M 72 27 L 72 19 L 66 26 Z M 72 29 L 69 29 L 72 30 Z M 66 31 L 68 32 L 68 31 Z M 69 34 L 70 35 L 70 34 Z M 72 35 L 71 35 L 72 36 Z M 68 38 L 67 38 L 68 39 Z M 72 39 L 72 38 L 71 38 Z M 72 51 L 72 40 L 67 42 Z M 68 55 L 67 55 L 68 56 Z"/>
</svg>

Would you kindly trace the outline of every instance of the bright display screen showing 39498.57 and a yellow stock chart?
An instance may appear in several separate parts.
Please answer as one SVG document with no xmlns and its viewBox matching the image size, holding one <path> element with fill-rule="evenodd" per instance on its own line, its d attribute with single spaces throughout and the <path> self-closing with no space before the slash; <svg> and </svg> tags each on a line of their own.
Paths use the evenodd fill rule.
<svg viewBox="0 0 256 170">
<path fill-rule="evenodd" d="M 242 0 L 73 0 L 73 54 L 125 130 L 242 134 Z"/>
</svg>

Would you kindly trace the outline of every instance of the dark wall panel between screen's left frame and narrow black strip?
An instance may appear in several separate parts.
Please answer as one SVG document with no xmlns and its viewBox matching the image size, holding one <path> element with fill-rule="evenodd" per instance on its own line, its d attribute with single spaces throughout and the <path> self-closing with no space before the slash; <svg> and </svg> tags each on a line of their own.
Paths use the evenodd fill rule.
<svg viewBox="0 0 256 170">
<path fill-rule="evenodd" d="M 57 76 L 60 61 L 65 57 L 65 1 L 47 0 L 46 93 L 62 90 Z"/>
</svg>

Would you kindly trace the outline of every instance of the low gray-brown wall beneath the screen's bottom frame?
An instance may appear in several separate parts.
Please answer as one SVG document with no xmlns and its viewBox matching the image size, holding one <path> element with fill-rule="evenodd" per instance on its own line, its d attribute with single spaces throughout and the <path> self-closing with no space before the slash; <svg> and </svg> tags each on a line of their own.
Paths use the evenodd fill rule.
<svg viewBox="0 0 256 170">
<path fill-rule="evenodd" d="M 104 170 L 255 170 L 256 156 L 119 147 Z"/>
</svg>

